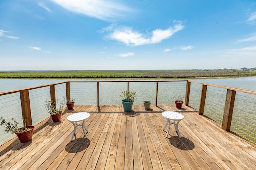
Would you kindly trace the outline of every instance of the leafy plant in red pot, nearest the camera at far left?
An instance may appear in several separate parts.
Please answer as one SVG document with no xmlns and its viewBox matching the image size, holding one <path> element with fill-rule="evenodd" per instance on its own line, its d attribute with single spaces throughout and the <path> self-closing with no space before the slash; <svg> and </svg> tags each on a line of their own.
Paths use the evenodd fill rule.
<svg viewBox="0 0 256 170">
<path fill-rule="evenodd" d="M 5 127 L 4 132 L 10 132 L 12 133 L 12 135 L 15 133 L 21 143 L 31 141 L 35 127 L 27 126 L 26 120 L 24 120 L 23 127 L 18 127 L 19 122 L 16 121 L 14 118 L 12 118 L 12 121 L 14 121 L 14 123 L 7 122 L 3 117 L 0 117 L 0 121 L 0 125 L 4 125 Z"/>
</svg>

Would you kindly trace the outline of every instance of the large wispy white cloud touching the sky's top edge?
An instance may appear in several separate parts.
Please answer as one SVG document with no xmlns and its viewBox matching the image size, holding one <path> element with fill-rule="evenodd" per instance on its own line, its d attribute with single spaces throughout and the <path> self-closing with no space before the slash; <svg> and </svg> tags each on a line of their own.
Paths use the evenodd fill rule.
<svg viewBox="0 0 256 170">
<path fill-rule="evenodd" d="M 66 10 L 84 14 L 101 20 L 123 18 L 126 12 L 132 12 L 118 0 L 52 0 Z"/>
</svg>

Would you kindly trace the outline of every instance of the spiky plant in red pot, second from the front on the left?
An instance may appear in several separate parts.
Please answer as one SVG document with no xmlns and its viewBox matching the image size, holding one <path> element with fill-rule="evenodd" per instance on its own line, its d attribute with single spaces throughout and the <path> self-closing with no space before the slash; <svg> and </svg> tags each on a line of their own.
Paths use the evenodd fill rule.
<svg viewBox="0 0 256 170">
<path fill-rule="evenodd" d="M 53 122 L 60 121 L 64 103 L 65 103 L 64 97 L 59 103 L 58 103 L 58 99 L 56 103 L 53 102 L 52 100 L 46 99 L 45 108 L 48 111 L 48 113 L 50 113 Z"/>
</svg>

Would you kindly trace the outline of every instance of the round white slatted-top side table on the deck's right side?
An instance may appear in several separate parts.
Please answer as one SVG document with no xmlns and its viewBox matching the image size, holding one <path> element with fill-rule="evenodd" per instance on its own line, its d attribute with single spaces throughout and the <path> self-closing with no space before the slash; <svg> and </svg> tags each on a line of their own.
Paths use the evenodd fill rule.
<svg viewBox="0 0 256 170">
<path fill-rule="evenodd" d="M 164 129 L 169 124 L 168 131 L 166 133 L 166 137 L 168 136 L 168 133 L 170 130 L 170 125 L 173 124 L 176 132 L 178 133 L 179 138 L 181 138 L 180 131 L 178 129 L 178 125 L 179 125 L 179 122 L 182 119 L 184 119 L 184 115 L 182 115 L 181 113 L 178 113 L 176 111 L 164 111 L 164 112 L 162 112 L 162 116 L 166 119 L 166 125 L 164 126 Z M 172 120 L 172 122 L 170 122 L 170 120 Z"/>
</svg>

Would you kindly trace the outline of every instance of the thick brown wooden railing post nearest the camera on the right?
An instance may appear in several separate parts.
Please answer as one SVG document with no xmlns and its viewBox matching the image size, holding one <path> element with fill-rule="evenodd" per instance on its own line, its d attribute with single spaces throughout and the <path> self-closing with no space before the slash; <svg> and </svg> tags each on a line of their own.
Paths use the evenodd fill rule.
<svg viewBox="0 0 256 170">
<path fill-rule="evenodd" d="M 225 131 L 230 131 L 235 98 L 236 98 L 236 91 L 227 90 L 224 114 L 222 119 L 222 129 L 224 129 Z"/>
</svg>

